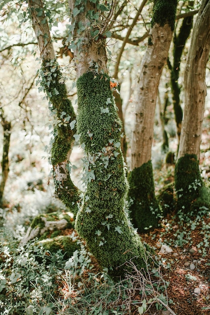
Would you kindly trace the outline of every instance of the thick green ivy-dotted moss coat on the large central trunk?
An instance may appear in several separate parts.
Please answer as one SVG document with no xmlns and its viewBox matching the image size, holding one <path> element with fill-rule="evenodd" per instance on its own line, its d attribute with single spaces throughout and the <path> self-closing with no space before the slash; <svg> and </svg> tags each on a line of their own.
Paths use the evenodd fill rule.
<svg viewBox="0 0 210 315">
<path fill-rule="evenodd" d="M 94 176 L 88 180 L 76 229 L 100 265 L 119 276 L 126 269 L 123 264 L 133 257 L 142 267 L 145 255 L 123 209 L 128 185 L 120 149 L 121 123 L 107 75 L 85 73 L 77 87 L 77 128 L 87 153 L 86 175 Z"/>
</svg>

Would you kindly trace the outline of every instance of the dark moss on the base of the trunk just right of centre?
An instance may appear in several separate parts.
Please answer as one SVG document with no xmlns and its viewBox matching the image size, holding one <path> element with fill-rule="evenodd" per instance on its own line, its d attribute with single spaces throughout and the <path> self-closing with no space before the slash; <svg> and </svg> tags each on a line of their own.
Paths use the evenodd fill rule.
<svg viewBox="0 0 210 315">
<path fill-rule="evenodd" d="M 132 170 L 128 175 L 128 181 L 130 189 L 127 199 L 134 227 L 137 227 L 139 232 L 157 227 L 161 211 L 155 197 L 151 161 Z"/>
</svg>

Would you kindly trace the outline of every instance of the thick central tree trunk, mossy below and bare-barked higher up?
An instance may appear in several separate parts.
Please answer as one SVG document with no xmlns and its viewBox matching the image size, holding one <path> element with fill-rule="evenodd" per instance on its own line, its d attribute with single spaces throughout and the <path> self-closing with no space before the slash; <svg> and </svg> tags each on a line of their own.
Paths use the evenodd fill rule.
<svg viewBox="0 0 210 315">
<path fill-rule="evenodd" d="M 76 229 L 100 265 L 108 268 L 110 275 L 120 276 L 130 259 L 138 267 L 144 266 L 145 251 L 124 212 L 127 180 L 120 148 L 121 122 L 107 74 L 104 34 L 97 32 L 99 35 L 94 36 L 93 33 L 96 25 L 103 28 L 99 24 L 99 6 L 99 1 L 87 1 L 83 11 L 75 1 L 69 1 L 72 24 L 76 26 L 74 42 L 81 43 L 75 50 L 77 132 L 86 152 L 87 182 Z M 90 24 L 92 12 L 96 18 Z"/>
</svg>

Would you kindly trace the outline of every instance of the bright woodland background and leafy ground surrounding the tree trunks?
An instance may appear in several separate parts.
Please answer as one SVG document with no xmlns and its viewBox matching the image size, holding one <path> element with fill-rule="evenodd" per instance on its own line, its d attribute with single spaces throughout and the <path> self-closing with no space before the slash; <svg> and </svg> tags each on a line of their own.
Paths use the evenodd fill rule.
<svg viewBox="0 0 210 315">
<path fill-rule="evenodd" d="M 111 3 L 111 2 L 108 2 Z M 190 3 L 190 4 L 189 4 Z M 182 15 L 193 12 L 194 23 L 201 2 L 179 1 L 175 31 L 178 33 Z M 50 25 L 54 51 L 77 112 L 77 74 L 72 50 L 63 44 L 69 35 L 69 8 L 66 1 L 46 1 L 46 21 Z M 122 12 L 110 30 L 106 42 L 108 68 L 115 77 L 117 58 L 129 26 L 136 15 L 138 1 L 119 1 Z M 122 98 L 124 133 L 126 135 L 127 171 L 130 169 L 131 130 L 139 69 L 148 45 L 153 2 L 145 2 L 143 11 L 133 26 L 119 63 L 117 82 Z M 74 229 L 73 214 L 55 196 L 50 163 L 53 138 L 53 117 L 46 94 L 40 85 L 40 52 L 26 2 L 6 1 L 0 5 L 0 85 L 1 134 L 0 155 L 3 155 L 4 125 L 11 123 L 9 175 L 0 208 L 0 311 L 5 314 L 208 314 L 209 293 L 209 229 L 208 211 L 194 217 L 175 215 L 164 217 L 159 226 L 142 233 L 143 243 L 154 249 L 146 273 L 132 271 L 125 279 L 114 282 L 89 253 L 85 242 Z M 193 25 L 196 27 L 196 24 Z M 184 71 L 191 34 L 181 56 L 178 83 L 181 107 L 184 109 Z M 141 39 L 141 40 L 139 40 Z M 129 43 L 130 42 L 130 43 Z M 173 41 L 169 50 L 173 60 Z M 200 145 L 200 173 L 206 187 L 210 177 L 210 64 L 206 67 L 207 95 Z M 156 105 L 152 165 L 155 193 L 173 185 L 178 139 L 170 88 L 170 70 L 164 66 Z M 115 77 L 116 79 L 116 77 Z M 115 82 L 115 80 L 113 81 Z M 167 107 L 165 107 L 167 99 Z M 163 128 L 169 147 L 163 150 Z M 166 163 L 168 152 L 175 160 Z M 69 171 L 74 184 L 85 191 L 84 151 L 75 143 Z M 59 213 L 56 217 L 55 213 Z M 41 237 L 20 244 L 33 220 L 48 214 L 49 221 L 60 221 L 68 215 L 68 225 L 61 231 L 46 230 Z M 66 218 L 66 217 L 65 217 Z M 72 244 L 60 243 L 59 237 Z M 40 236 L 40 235 L 39 235 Z M 42 240 L 41 240 L 42 239 Z M 51 240 L 46 243 L 44 239 Z M 67 242 L 66 242 L 67 243 Z M 170 249 L 162 246 L 169 246 Z M 71 248 L 71 249 L 69 249 Z M 161 251 L 162 250 L 162 251 Z M 158 264 L 156 264 L 158 260 Z"/>
</svg>

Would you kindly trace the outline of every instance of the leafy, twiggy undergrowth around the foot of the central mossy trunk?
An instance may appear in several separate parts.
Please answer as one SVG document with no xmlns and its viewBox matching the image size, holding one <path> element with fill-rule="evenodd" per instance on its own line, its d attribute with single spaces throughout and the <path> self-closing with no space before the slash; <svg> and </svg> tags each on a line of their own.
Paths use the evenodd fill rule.
<svg viewBox="0 0 210 315">
<path fill-rule="evenodd" d="M 2 233 L 0 252 L 0 314 L 144 314 L 151 307 L 168 307 L 168 283 L 161 264 L 146 262 L 114 282 L 101 270 L 73 232 L 81 249 L 64 260 L 60 251 L 50 253 L 37 240 L 19 247 L 13 235 Z M 154 267 L 155 266 L 155 267 Z"/>
</svg>

